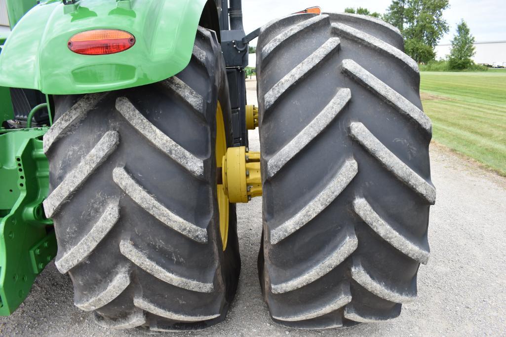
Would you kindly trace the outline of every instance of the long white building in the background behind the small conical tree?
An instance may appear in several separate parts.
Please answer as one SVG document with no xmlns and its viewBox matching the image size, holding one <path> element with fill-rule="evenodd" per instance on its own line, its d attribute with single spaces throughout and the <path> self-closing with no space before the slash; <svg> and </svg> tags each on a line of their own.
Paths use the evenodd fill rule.
<svg viewBox="0 0 506 337">
<path fill-rule="evenodd" d="M 473 60 L 479 64 L 502 65 L 506 67 L 506 41 L 476 42 Z M 445 59 L 450 54 L 451 44 L 438 45 L 435 48 L 436 60 Z"/>
</svg>

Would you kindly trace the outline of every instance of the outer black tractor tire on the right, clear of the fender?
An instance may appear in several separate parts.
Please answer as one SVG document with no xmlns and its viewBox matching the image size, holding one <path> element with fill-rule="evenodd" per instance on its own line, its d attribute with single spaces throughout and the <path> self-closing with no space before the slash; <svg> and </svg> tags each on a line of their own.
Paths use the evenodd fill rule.
<svg viewBox="0 0 506 337">
<path fill-rule="evenodd" d="M 277 323 L 399 316 L 427 263 L 431 121 L 399 31 L 368 16 L 271 22 L 257 48 L 259 276 Z"/>
</svg>

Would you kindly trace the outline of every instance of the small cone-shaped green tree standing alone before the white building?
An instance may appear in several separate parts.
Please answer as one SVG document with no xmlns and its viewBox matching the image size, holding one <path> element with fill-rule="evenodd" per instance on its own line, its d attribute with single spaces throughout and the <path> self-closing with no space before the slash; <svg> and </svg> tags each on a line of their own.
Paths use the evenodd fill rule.
<svg viewBox="0 0 506 337">
<path fill-rule="evenodd" d="M 450 69 L 467 69 L 474 64 L 471 59 L 476 54 L 474 43 L 475 38 L 471 35 L 468 24 L 462 19 L 451 40 L 451 52 L 448 56 Z"/>
</svg>

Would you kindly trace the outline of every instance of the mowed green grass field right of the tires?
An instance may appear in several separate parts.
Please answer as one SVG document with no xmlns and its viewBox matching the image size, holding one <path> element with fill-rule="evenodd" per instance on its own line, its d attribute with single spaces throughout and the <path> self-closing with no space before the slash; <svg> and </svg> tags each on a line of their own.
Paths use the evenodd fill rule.
<svg viewBox="0 0 506 337">
<path fill-rule="evenodd" d="M 506 176 L 506 69 L 420 74 L 433 139 Z"/>
</svg>

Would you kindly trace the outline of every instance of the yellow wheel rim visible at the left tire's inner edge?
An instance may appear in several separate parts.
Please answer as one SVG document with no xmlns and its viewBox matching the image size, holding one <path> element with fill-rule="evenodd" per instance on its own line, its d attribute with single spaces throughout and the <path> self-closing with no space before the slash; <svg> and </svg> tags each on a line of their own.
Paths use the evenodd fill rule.
<svg viewBox="0 0 506 337">
<path fill-rule="evenodd" d="M 225 124 L 223 122 L 223 111 L 220 102 L 216 108 L 216 165 L 217 172 L 222 167 L 223 156 L 227 153 L 227 137 L 225 136 Z M 223 189 L 223 184 L 218 185 L 218 208 L 220 210 L 220 233 L 222 237 L 223 250 L 227 248 L 229 201 Z"/>
</svg>

